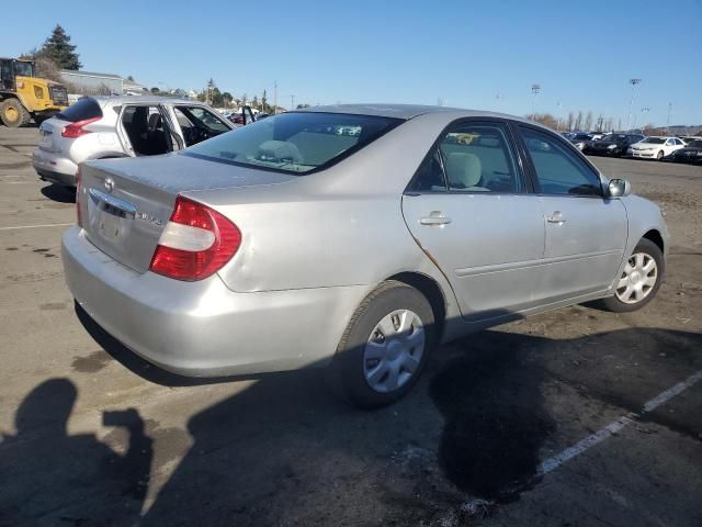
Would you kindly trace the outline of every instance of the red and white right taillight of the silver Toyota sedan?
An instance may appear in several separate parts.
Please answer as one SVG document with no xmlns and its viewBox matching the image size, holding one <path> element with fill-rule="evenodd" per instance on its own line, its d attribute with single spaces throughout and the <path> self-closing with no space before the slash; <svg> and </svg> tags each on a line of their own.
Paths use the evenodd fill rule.
<svg viewBox="0 0 702 527">
<path fill-rule="evenodd" d="M 149 269 L 177 280 L 202 280 L 222 269 L 240 245 L 241 232 L 234 223 L 179 195 Z"/>
</svg>

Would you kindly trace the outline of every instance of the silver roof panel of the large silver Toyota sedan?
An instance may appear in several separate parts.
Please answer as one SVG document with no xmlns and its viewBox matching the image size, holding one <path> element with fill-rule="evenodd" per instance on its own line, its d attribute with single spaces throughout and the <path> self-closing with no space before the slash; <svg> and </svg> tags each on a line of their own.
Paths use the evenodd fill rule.
<svg viewBox="0 0 702 527">
<path fill-rule="evenodd" d="M 376 115 L 381 117 L 396 117 L 409 120 L 427 113 L 453 113 L 455 116 L 463 117 L 500 117 L 522 121 L 524 123 L 535 124 L 516 115 L 505 113 L 488 112 L 482 110 L 465 110 L 463 108 L 451 106 L 431 106 L 423 104 L 329 104 L 324 106 L 312 106 L 304 110 L 295 110 L 296 112 L 326 112 L 326 113 L 350 113 L 359 115 Z"/>
</svg>

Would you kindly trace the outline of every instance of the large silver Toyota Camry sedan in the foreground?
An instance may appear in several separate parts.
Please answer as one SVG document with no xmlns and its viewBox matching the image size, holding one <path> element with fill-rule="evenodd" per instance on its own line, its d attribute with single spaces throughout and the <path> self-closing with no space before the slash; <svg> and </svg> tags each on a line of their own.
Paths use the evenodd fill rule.
<svg viewBox="0 0 702 527">
<path fill-rule="evenodd" d="M 668 251 L 627 181 L 488 112 L 316 106 L 80 175 L 64 266 L 104 329 L 185 375 L 329 367 L 363 407 L 404 395 L 438 343 L 646 305 Z"/>
</svg>

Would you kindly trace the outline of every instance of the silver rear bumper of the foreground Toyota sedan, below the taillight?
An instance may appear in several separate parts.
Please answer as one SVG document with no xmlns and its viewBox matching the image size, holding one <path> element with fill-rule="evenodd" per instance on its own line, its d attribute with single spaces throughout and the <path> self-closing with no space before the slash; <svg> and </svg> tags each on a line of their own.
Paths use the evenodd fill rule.
<svg viewBox="0 0 702 527">
<path fill-rule="evenodd" d="M 183 282 L 139 274 L 75 226 L 63 239 L 76 301 L 126 347 L 165 370 L 219 377 L 325 366 L 363 285 L 235 293 L 217 274 Z"/>
</svg>

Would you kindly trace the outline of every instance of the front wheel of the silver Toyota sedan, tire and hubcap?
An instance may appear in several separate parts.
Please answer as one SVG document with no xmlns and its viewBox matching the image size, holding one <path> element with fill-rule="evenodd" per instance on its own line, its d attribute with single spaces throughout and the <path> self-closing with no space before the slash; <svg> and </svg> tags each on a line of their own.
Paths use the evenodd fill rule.
<svg viewBox="0 0 702 527">
<path fill-rule="evenodd" d="M 653 271 L 645 270 L 649 261 L 655 264 L 652 268 Z M 613 296 L 602 300 L 604 307 L 614 313 L 631 313 L 632 311 L 644 307 L 656 296 L 656 293 L 658 293 L 665 276 L 665 266 L 666 262 L 660 248 L 652 240 L 642 238 L 636 245 L 636 248 L 634 248 L 632 256 L 629 257 L 624 272 L 620 277 L 622 287 L 615 290 Z M 632 268 L 632 271 L 627 271 L 630 268 Z M 632 274 L 633 271 L 636 271 L 637 274 Z M 635 285 L 631 284 L 632 276 L 636 280 Z M 654 277 L 655 281 L 646 285 L 646 279 Z M 629 279 L 629 283 L 624 283 L 626 279 Z M 619 283 L 616 285 L 619 285 Z M 631 293 L 630 290 L 632 290 Z M 630 294 L 629 299 L 627 294 Z"/>
</svg>

